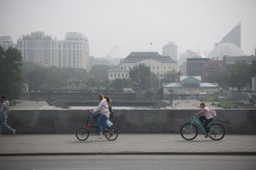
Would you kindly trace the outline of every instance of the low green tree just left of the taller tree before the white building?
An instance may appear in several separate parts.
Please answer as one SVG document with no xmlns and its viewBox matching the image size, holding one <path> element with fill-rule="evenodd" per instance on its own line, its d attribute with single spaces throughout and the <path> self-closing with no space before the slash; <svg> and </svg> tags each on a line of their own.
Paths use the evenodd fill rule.
<svg viewBox="0 0 256 170">
<path fill-rule="evenodd" d="M 111 81 L 111 88 L 113 88 L 116 92 L 123 92 L 125 87 L 132 88 L 132 81 L 130 78 L 117 78 Z"/>
</svg>

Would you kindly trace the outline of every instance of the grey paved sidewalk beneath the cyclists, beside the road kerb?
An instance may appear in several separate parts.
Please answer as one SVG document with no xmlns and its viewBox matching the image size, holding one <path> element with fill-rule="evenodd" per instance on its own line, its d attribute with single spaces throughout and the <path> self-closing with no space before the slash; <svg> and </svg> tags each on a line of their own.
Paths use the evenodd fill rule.
<svg viewBox="0 0 256 170">
<path fill-rule="evenodd" d="M 0 154 L 100 154 L 100 153 L 163 153 L 163 154 L 224 154 L 256 153 L 256 135 L 226 135 L 221 141 L 212 141 L 198 135 L 186 141 L 179 134 L 121 133 L 116 141 L 96 139 L 78 141 L 72 135 L 3 135 Z"/>
</svg>

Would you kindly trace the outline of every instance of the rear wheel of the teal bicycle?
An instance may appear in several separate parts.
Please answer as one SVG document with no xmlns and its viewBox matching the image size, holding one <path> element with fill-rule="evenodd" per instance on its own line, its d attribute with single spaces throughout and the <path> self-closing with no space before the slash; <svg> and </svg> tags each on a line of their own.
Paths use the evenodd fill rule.
<svg viewBox="0 0 256 170">
<path fill-rule="evenodd" d="M 225 129 L 224 127 L 219 124 L 219 123 L 213 123 L 210 125 L 210 138 L 213 139 L 214 141 L 219 141 L 225 136 Z"/>
</svg>

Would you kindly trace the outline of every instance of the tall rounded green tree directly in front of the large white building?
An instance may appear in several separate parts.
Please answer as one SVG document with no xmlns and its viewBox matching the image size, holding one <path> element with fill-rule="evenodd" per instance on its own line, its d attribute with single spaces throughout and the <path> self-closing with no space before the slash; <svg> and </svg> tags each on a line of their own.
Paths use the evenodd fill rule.
<svg viewBox="0 0 256 170">
<path fill-rule="evenodd" d="M 133 82 L 133 88 L 136 90 L 147 90 L 151 86 L 151 75 L 150 68 L 144 64 L 139 64 L 130 69 L 130 79 Z"/>
</svg>

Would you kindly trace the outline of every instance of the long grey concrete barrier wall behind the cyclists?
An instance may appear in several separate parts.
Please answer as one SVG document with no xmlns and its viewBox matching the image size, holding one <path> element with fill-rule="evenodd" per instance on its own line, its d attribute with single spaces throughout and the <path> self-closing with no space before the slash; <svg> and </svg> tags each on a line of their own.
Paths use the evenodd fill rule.
<svg viewBox="0 0 256 170">
<path fill-rule="evenodd" d="M 179 133 L 198 110 L 114 110 L 111 119 L 120 132 Z M 216 110 L 227 133 L 255 134 L 256 110 Z M 11 110 L 8 123 L 18 133 L 75 133 L 85 124 L 85 110 Z M 91 118 L 90 123 L 93 123 Z"/>
</svg>

